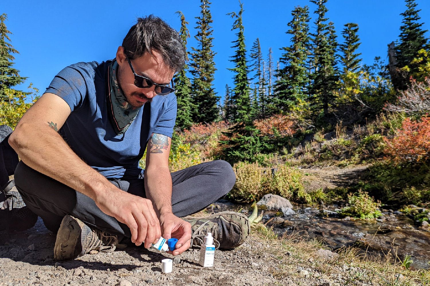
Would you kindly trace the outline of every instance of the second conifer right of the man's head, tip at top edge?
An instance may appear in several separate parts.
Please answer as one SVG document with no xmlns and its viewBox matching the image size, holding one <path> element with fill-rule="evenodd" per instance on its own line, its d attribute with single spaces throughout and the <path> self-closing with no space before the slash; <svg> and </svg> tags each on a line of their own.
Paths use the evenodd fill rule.
<svg viewBox="0 0 430 286">
<path fill-rule="evenodd" d="M 190 73 L 193 75 L 191 91 L 192 103 L 195 108 L 192 110 L 194 122 L 213 122 L 218 118 L 218 100 L 212 81 L 215 75 L 215 52 L 212 51 L 212 15 L 209 10 L 209 0 L 200 0 L 200 17 L 197 18 L 198 48 L 191 48 L 191 63 L 193 68 Z"/>
</svg>

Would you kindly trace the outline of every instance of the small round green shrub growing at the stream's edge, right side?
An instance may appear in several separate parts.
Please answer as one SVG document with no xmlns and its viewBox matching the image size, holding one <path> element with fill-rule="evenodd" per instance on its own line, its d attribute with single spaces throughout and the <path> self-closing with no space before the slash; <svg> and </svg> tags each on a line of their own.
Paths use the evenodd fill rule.
<svg viewBox="0 0 430 286">
<path fill-rule="evenodd" d="M 341 211 L 342 214 L 347 216 L 354 216 L 360 219 L 373 219 L 381 216 L 379 202 L 373 201 L 367 192 L 359 190 L 358 194 L 348 195 L 349 207 L 344 207 Z"/>
</svg>

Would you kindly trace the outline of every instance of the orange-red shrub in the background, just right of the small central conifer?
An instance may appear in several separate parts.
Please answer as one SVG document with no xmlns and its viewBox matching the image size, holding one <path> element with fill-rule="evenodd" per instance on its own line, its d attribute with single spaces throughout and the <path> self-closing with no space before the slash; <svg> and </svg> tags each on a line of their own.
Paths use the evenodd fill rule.
<svg viewBox="0 0 430 286">
<path fill-rule="evenodd" d="M 255 127 L 260 130 L 261 136 L 273 137 L 275 130 L 282 137 L 295 134 L 294 121 L 286 115 L 276 114 L 265 119 L 254 121 Z"/>
</svg>

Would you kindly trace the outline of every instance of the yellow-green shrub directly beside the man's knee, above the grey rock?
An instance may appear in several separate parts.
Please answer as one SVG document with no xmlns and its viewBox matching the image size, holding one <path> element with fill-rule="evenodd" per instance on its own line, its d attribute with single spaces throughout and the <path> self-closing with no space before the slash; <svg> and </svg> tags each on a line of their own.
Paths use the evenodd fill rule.
<svg viewBox="0 0 430 286">
<path fill-rule="evenodd" d="M 264 170 L 258 163 L 239 162 L 233 165 L 233 170 L 236 173 L 236 184 L 227 194 L 229 200 L 248 203 L 264 195 L 261 189 Z"/>
</svg>

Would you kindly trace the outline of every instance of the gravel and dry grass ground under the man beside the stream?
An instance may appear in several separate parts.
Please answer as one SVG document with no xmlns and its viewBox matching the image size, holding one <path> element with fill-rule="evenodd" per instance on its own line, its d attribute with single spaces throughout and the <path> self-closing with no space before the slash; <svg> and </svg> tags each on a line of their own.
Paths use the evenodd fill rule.
<svg viewBox="0 0 430 286">
<path fill-rule="evenodd" d="M 200 267 L 199 250 L 189 250 L 174 259 L 169 274 L 161 272 L 161 260 L 173 257 L 153 249 L 129 246 L 57 262 L 53 259 L 54 243 L 55 235 L 40 219 L 27 231 L 0 233 L 0 285 L 427 285 L 412 281 L 380 284 L 381 274 L 362 268 L 361 262 L 350 263 L 351 257 L 316 251 L 315 243 L 273 237 L 266 228 L 252 232 L 237 249 L 216 250 L 212 268 Z M 396 272 L 382 275 L 406 279 Z"/>
</svg>

